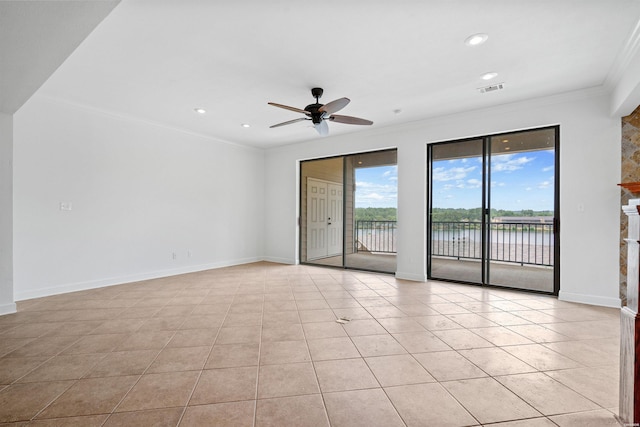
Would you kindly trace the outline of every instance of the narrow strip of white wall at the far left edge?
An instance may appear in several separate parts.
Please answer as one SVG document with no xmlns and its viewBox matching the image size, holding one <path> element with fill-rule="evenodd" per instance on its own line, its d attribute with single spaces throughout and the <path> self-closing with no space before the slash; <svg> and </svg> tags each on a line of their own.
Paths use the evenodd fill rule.
<svg viewBox="0 0 640 427">
<path fill-rule="evenodd" d="M 0 113 L 0 315 L 13 313 L 13 117 Z"/>
</svg>

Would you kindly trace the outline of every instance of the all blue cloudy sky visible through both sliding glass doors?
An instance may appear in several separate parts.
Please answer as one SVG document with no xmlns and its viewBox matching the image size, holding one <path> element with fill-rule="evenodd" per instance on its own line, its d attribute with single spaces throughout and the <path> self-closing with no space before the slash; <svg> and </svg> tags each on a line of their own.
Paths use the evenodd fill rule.
<svg viewBox="0 0 640 427">
<path fill-rule="evenodd" d="M 540 150 L 491 157 L 491 207 L 553 210 L 554 152 Z M 356 169 L 356 207 L 397 207 L 398 167 Z M 478 208 L 482 205 L 480 157 L 433 164 L 433 206 Z"/>
</svg>

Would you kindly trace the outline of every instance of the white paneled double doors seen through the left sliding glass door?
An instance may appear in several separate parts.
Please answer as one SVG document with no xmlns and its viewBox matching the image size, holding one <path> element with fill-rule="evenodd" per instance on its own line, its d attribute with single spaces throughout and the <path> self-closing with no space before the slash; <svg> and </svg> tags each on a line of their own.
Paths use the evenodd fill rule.
<svg viewBox="0 0 640 427">
<path fill-rule="evenodd" d="M 342 253 L 342 184 L 307 178 L 307 259 Z"/>
</svg>

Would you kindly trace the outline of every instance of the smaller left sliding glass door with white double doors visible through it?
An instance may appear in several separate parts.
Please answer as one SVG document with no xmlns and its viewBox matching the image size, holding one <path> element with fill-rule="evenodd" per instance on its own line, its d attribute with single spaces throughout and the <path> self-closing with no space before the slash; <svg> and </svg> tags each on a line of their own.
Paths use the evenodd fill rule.
<svg viewBox="0 0 640 427">
<path fill-rule="evenodd" d="M 396 271 L 397 151 L 300 164 L 300 261 Z"/>
</svg>

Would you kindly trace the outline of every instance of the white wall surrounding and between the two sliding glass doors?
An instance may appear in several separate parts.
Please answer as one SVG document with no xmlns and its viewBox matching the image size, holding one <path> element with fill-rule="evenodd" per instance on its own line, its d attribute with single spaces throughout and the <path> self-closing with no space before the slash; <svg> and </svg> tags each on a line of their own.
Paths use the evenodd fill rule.
<svg viewBox="0 0 640 427">
<path fill-rule="evenodd" d="M 490 94 L 498 95 L 499 94 Z M 266 258 L 296 263 L 297 162 L 398 147 L 397 277 L 425 280 L 426 145 L 560 125 L 560 298 L 620 306 L 618 294 L 620 120 L 601 91 L 497 108 L 273 148 L 265 156 Z M 336 125 L 337 126 L 337 125 Z M 579 210 L 579 206 L 584 210 Z"/>
</svg>

